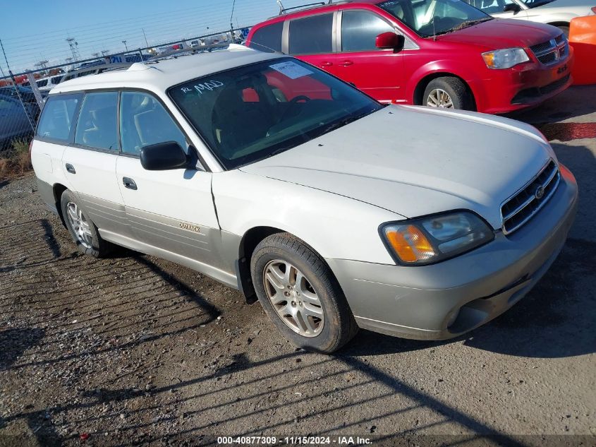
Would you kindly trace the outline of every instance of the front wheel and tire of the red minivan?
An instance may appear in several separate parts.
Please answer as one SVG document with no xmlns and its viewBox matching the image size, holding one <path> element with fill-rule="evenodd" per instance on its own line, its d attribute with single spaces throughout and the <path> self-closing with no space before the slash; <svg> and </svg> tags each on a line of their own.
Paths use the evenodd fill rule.
<svg viewBox="0 0 596 447">
<path fill-rule="evenodd" d="M 474 100 L 461 79 L 442 76 L 428 83 L 422 97 L 422 105 L 441 109 L 473 110 Z"/>
</svg>

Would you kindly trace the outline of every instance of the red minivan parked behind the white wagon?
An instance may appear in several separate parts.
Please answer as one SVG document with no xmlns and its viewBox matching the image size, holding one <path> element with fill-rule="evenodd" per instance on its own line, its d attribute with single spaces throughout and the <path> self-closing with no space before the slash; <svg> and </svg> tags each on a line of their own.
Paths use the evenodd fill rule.
<svg viewBox="0 0 596 447">
<path fill-rule="evenodd" d="M 284 10 L 253 27 L 246 44 L 293 54 L 381 102 L 499 114 L 572 82 L 573 52 L 559 28 L 492 18 L 462 0 Z"/>
</svg>

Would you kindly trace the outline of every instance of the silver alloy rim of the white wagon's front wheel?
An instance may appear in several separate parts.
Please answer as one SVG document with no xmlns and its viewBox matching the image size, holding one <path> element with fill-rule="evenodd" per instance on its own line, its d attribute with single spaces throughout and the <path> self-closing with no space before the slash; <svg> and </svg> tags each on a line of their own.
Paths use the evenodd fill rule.
<svg viewBox="0 0 596 447">
<path fill-rule="evenodd" d="M 263 270 L 267 298 L 288 328 L 304 337 L 316 337 L 324 326 L 324 312 L 310 281 L 287 261 L 270 261 Z"/>
</svg>

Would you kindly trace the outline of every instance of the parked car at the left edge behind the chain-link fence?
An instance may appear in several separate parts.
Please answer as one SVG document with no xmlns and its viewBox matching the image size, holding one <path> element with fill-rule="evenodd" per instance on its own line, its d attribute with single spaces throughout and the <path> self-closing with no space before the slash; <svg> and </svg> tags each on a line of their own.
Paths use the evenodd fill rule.
<svg viewBox="0 0 596 447">
<path fill-rule="evenodd" d="M 36 104 L 25 104 L 31 117 L 35 116 Z M 35 108 L 34 108 L 35 107 Z M 13 141 L 32 136 L 32 124 L 23 104 L 12 97 L 0 95 L 0 150 L 11 148 Z"/>
</svg>

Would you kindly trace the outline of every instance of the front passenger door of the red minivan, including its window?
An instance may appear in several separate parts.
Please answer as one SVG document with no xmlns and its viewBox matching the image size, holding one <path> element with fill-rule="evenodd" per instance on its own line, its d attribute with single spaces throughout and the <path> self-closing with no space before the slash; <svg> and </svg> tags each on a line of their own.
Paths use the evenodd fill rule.
<svg viewBox="0 0 596 447">
<path fill-rule="evenodd" d="M 332 61 L 334 75 L 376 100 L 403 102 L 403 54 L 376 46 L 377 35 L 396 32 L 394 26 L 362 9 L 346 8 L 338 16 L 340 52 Z"/>
</svg>

